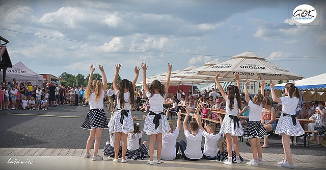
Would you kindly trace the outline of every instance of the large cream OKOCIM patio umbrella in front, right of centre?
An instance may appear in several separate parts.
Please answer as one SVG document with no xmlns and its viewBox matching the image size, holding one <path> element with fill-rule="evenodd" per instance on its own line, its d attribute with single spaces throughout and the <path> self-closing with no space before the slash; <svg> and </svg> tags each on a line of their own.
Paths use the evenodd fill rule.
<svg viewBox="0 0 326 170">
<path fill-rule="evenodd" d="M 251 51 L 233 56 L 230 60 L 209 66 L 199 71 L 200 75 L 215 76 L 220 72 L 221 78 L 234 78 L 238 73 L 240 79 L 253 80 L 296 80 L 303 78 L 300 75 L 266 61 Z"/>
</svg>

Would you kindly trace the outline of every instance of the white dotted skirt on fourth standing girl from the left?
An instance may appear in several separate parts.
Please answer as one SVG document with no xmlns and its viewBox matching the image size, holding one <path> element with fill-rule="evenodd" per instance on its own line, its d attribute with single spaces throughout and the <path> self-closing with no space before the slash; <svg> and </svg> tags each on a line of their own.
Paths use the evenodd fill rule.
<svg viewBox="0 0 326 170">
<path fill-rule="evenodd" d="M 233 119 L 230 118 L 228 114 L 226 114 L 223 119 L 220 132 L 222 134 L 230 133 L 232 136 L 242 136 L 243 129 L 240 121 L 238 123 L 239 123 L 239 127 L 237 124 L 235 124 L 236 128 L 234 129 Z"/>
</svg>

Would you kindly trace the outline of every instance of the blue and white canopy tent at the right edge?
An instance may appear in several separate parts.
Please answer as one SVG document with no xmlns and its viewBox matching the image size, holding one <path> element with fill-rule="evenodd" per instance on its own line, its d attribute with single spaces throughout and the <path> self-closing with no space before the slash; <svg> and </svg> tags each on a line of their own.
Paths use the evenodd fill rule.
<svg viewBox="0 0 326 170">
<path fill-rule="evenodd" d="M 274 86 L 277 96 L 281 96 L 285 85 L 286 83 L 282 83 Z M 304 91 L 304 101 L 326 101 L 326 73 L 295 81 L 295 86 Z M 270 86 L 266 89 L 270 89 Z"/>
</svg>

